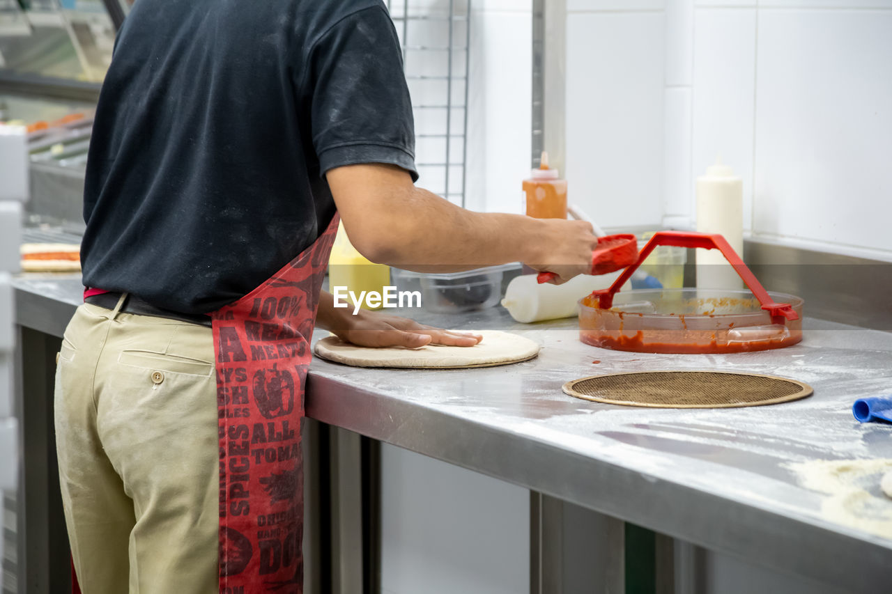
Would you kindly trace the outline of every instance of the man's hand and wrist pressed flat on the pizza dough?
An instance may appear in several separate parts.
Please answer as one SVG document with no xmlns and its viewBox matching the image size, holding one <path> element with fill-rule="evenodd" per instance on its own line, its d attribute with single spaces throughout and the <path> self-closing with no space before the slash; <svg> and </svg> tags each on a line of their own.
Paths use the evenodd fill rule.
<svg viewBox="0 0 892 594">
<path fill-rule="evenodd" d="M 338 338 L 358 346 L 401 346 L 419 349 L 427 344 L 474 346 L 483 339 L 480 334 L 453 332 L 424 326 L 409 318 L 388 316 L 360 309 L 355 316 L 349 309 L 335 309 L 334 297 L 323 291 L 319 294 L 317 324 Z"/>
</svg>

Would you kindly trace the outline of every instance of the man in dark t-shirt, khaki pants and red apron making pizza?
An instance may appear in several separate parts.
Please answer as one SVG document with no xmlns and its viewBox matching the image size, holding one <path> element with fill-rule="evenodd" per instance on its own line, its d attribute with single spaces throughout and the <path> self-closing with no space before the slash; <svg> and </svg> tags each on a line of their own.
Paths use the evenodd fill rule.
<svg viewBox="0 0 892 594">
<path fill-rule="evenodd" d="M 313 326 L 368 346 L 480 340 L 335 309 L 319 289 L 338 213 L 359 252 L 401 268 L 522 260 L 566 280 L 590 264 L 586 223 L 414 186 L 413 145 L 379 0 L 136 2 L 97 106 L 87 302 L 56 378 L 86 594 L 301 591 Z"/>
</svg>

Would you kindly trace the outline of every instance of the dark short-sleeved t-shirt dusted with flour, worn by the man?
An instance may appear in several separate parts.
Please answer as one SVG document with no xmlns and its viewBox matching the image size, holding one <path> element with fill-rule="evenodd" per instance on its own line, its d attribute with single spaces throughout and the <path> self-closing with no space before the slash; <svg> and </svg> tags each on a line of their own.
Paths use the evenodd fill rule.
<svg viewBox="0 0 892 594">
<path fill-rule="evenodd" d="M 139 0 L 96 109 L 84 284 L 219 309 L 325 230 L 326 170 L 417 178 L 414 145 L 380 0 Z"/>
</svg>

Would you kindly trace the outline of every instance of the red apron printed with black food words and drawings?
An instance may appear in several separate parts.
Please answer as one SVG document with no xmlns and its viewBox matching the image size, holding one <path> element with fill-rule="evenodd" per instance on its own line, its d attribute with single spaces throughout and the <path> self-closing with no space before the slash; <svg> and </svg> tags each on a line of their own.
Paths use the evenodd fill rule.
<svg viewBox="0 0 892 594">
<path fill-rule="evenodd" d="M 221 593 L 303 591 L 303 388 L 337 225 L 212 316 Z"/>
</svg>

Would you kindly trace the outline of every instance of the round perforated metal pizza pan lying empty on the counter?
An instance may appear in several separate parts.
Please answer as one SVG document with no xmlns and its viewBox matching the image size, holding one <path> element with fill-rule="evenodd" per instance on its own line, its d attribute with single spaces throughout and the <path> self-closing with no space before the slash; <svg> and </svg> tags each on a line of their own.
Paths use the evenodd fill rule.
<svg viewBox="0 0 892 594">
<path fill-rule="evenodd" d="M 736 408 L 812 395 L 785 377 L 730 371 L 639 371 L 591 375 L 564 384 L 564 393 L 595 402 L 649 408 Z"/>
</svg>

